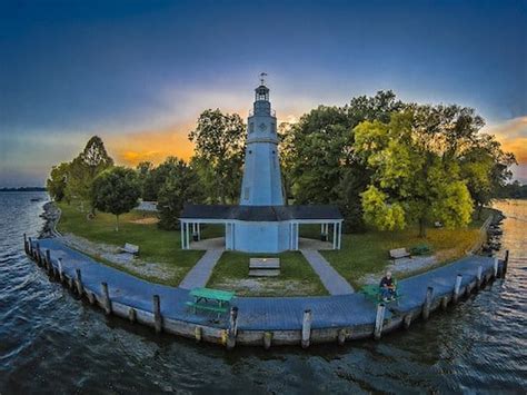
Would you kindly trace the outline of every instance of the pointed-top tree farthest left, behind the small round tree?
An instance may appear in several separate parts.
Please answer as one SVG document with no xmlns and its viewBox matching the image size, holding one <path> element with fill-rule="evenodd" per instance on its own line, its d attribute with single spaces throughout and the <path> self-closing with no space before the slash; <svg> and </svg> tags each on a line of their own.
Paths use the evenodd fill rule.
<svg viewBox="0 0 527 395">
<path fill-rule="evenodd" d="M 108 155 L 101 138 L 93 136 L 87 142 L 82 152 L 69 165 L 66 195 L 69 200 L 88 201 L 91 214 L 95 214 L 91 201 L 91 185 L 103 170 L 113 166 L 113 159 Z"/>
</svg>

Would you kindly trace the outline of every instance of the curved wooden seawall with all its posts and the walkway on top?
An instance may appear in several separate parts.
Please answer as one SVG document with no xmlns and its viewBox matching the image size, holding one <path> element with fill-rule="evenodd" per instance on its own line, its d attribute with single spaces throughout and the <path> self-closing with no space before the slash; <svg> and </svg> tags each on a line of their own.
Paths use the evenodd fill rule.
<svg viewBox="0 0 527 395">
<path fill-rule="evenodd" d="M 409 328 L 416 319 L 480 289 L 505 276 L 508 254 L 497 258 L 469 256 L 447 266 L 399 282 L 404 295 L 398 305 L 374 303 L 361 294 L 325 297 L 239 297 L 236 312 L 219 320 L 196 315 L 186 307 L 189 292 L 141 280 L 97 263 L 58 239 L 31 240 L 24 249 L 50 279 L 60 282 L 106 314 L 195 338 L 197 342 L 264 346 L 339 343 L 380 338 Z M 235 314 L 236 313 L 236 314 Z"/>
</svg>

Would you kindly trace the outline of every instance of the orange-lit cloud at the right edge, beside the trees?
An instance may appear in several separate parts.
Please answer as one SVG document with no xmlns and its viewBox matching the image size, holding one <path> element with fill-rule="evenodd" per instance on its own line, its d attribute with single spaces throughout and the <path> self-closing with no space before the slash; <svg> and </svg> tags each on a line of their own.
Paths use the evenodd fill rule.
<svg viewBox="0 0 527 395">
<path fill-rule="evenodd" d="M 527 116 L 489 125 L 483 131 L 495 135 L 506 151 L 515 154 L 518 164 L 527 164 Z"/>
</svg>

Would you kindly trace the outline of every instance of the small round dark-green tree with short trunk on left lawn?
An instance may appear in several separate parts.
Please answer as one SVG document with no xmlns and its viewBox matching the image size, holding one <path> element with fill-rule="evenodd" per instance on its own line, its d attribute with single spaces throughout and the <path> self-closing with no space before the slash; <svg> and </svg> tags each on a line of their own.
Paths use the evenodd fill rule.
<svg viewBox="0 0 527 395">
<path fill-rule="evenodd" d="M 116 216 L 116 231 L 119 230 L 119 216 L 135 208 L 140 195 L 136 171 L 120 166 L 102 171 L 91 187 L 93 207 Z"/>
</svg>

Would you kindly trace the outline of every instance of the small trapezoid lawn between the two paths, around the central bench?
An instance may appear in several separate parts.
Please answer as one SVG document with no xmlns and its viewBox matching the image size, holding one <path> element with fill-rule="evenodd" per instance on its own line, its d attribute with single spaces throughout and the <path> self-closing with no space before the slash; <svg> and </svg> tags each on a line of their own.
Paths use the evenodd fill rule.
<svg viewBox="0 0 527 395">
<path fill-rule="evenodd" d="M 249 258 L 280 258 L 277 277 L 249 277 Z M 235 290 L 239 296 L 328 295 L 320 278 L 298 251 L 245 254 L 226 251 L 216 265 L 208 287 Z"/>
</svg>

